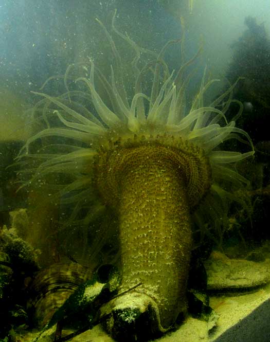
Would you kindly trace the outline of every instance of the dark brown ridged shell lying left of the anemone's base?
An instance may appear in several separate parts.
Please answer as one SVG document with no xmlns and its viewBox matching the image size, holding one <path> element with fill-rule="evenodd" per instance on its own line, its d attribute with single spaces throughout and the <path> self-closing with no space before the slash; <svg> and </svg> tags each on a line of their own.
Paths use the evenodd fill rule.
<svg viewBox="0 0 270 342">
<path fill-rule="evenodd" d="M 65 300 L 93 273 L 76 264 L 54 264 L 38 272 L 30 284 L 29 305 L 33 310 L 33 323 L 44 327 Z"/>
</svg>

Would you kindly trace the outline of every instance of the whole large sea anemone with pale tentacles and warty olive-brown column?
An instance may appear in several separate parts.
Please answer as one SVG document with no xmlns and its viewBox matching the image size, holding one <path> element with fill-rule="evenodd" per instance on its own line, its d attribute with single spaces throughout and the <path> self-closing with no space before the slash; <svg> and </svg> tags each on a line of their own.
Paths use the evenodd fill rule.
<svg viewBox="0 0 270 342">
<path fill-rule="evenodd" d="M 143 339 L 167 331 L 185 313 L 192 217 L 199 222 L 202 212 L 218 215 L 211 198 L 232 197 L 230 191 L 246 185 L 236 163 L 254 150 L 248 135 L 225 116 L 235 84 L 205 106 L 204 95 L 217 81 L 206 81 L 205 71 L 187 113 L 190 77 L 184 73 L 195 57 L 169 73 L 164 54 L 177 42 L 155 55 L 119 32 L 114 20 L 113 33 L 134 51 L 129 65 L 134 95 L 125 86 L 130 79 L 112 36 L 98 21 L 113 51 L 111 75 L 106 78 L 91 59 L 89 75 L 72 81 L 83 90 L 70 89 L 70 66 L 66 93 L 35 93 L 44 97 L 34 108 L 35 118 L 46 128 L 28 139 L 19 160 L 30 165 L 21 172 L 28 178 L 24 186 L 50 187 L 51 198 L 73 207 L 70 220 L 83 218 L 88 225 L 95 208 L 115 212 L 122 295 L 105 305 L 101 315 L 111 313 L 107 330 L 118 339 L 126 338 L 129 329 L 138 334 L 137 322 L 148 325 L 152 335 Z M 143 65 L 146 55 L 151 60 Z M 142 91 L 149 74 L 150 94 Z M 249 151 L 220 150 L 228 139 L 245 142 Z"/>
</svg>

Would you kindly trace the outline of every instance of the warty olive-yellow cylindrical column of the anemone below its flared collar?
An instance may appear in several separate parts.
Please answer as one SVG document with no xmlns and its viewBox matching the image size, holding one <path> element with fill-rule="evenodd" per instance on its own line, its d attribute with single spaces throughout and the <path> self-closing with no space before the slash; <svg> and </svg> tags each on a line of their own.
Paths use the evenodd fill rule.
<svg viewBox="0 0 270 342">
<path fill-rule="evenodd" d="M 119 205 L 122 287 L 141 282 L 134 291 L 154 299 L 167 328 L 186 304 L 191 250 L 186 179 L 160 149 L 130 154 L 135 165 L 123 177 Z"/>
</svg>

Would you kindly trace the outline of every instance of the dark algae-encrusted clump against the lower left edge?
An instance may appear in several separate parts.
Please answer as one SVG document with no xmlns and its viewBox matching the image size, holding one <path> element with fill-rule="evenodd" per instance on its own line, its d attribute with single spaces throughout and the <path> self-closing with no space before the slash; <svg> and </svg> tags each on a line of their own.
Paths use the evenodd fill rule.
<svg viewBox="0 0 270 342">
<path fill-rule="evenodd" d="M 38 269 L 37 252 L 16 235 L 14 228 L 0 228 L 0 338 L 13 325 L 27 323 L 24 281 Z"/>
</svg>

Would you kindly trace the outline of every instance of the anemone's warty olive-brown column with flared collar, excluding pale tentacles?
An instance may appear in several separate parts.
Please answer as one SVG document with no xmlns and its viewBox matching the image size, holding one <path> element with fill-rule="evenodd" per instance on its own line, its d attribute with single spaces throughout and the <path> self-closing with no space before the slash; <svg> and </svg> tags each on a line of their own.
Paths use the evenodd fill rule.
<svg viewBox="0 0 270 342">
<path fill-rule="evenodd" d="M 103 200 L 119 215 L 120 292 L 141 283 L 134 292 L 155 302 L 167 329 L 186 309 L 190 210 L 210 187 L 208 158 L 181 138 L 134 136 L 103 145 L 96 171 Z"/>
</svg>

